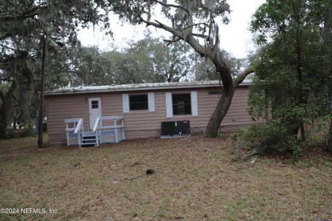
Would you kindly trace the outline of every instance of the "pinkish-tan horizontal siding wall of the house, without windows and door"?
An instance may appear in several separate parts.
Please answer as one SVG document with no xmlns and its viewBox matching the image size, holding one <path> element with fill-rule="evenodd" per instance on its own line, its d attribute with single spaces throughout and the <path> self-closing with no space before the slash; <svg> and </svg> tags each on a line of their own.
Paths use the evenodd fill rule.
<svg viewBox="0 0 332 221">
<path fill-rule="evenodd" d="M 190 93 L 197 91 L 199 115 L 173 115 L 166 117 L 165 92 Z M 193 88 L 178 90 L 145 90 L 109 93 L 85 93 L 71 95 L 46 96 L 46 115 L 48 120 L 48 140 L 50 144 L 66 143 L 64 119 L 82 117 L 84 119 L 84 131 L 89 131 L 89 98 L 100 97 L 102 101 L 102 115 L 123 115 L 126 139 L 160 136 L 160 122 L 189 120 L 192 133 L 203 132 L 208 124 L 210 116 L 216 107 L 221 95 L 209 95 L 210 90 L 216 88 Z M 122 94 L 129 95 L 154 93 L 155 111 L 130 111 L 123 113 Z M 232 104 L 227 115 L 223 119 L 221 129 L 234 131 L 239 126 L 251 124 L 252 121 L 247 113 L 248 86 L 239 86 L 235 91 Z"/>
</svg>

